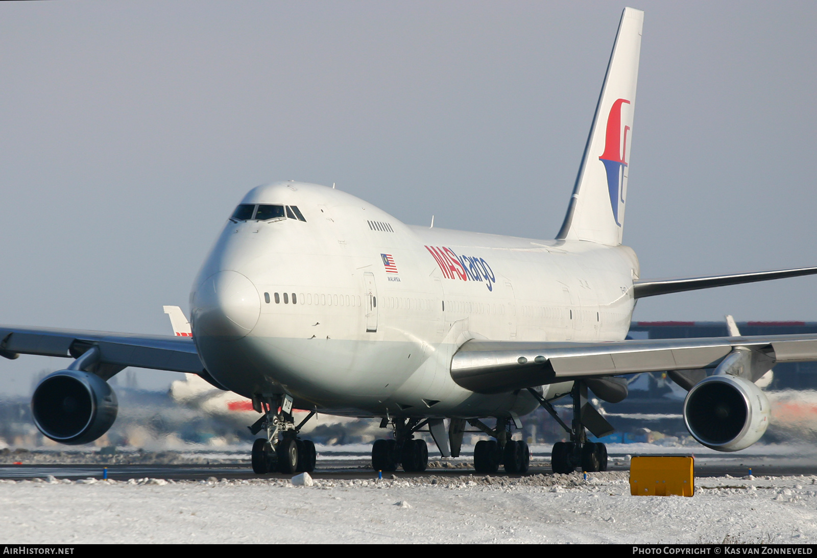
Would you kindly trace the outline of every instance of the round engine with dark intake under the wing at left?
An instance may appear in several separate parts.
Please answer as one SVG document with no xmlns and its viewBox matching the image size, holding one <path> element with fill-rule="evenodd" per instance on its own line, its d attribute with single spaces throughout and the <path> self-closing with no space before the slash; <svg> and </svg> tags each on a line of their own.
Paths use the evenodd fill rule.
<svg viewBox="0 0 817 558">
<path fill-rule="evenodd" d="M 60 370 L 43 378 L 31 398 L 34 424 L 60 444 L 87 444 L 116 420 L 116 394 L 99 376 Z"/>
</svg>

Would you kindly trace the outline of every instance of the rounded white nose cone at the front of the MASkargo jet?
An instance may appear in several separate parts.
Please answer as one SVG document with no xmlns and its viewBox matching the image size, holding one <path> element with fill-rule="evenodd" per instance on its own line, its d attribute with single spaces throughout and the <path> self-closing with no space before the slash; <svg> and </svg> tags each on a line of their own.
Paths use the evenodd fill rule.
<svg viewBox="0 0 817 558">
<path fill-rule="evenodd" d="M 261 315 L 261 297 L 252 281 L 237 271 L 210 275 L 193 299 L 194 336 L 240 339 Z"/>
</svg>

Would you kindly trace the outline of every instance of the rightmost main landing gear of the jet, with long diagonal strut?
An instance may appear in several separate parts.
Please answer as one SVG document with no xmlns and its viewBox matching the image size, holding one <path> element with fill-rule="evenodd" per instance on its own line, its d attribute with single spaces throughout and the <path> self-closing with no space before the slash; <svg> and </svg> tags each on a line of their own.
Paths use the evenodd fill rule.
<svg viewBox="0 0 817 558">
<path fill-rule="evenodd" d="M 574 382 L 570 396 L 573 398 L 573 422 L 567 426 L 556 409 L 539 395 L 533 388 L 528 388 L 531 395 L 539 404 L 551 413 L 551 416 L 567 431 L 569 442 L 556 442 L 551 451 L 551 468 L 554 473 L 571 473 L 577 466 L 582 471 L 607 471 L 607 447 L 600 442 L 587 441 L 587 430 L 600 438 L 614 431 L 613 426 L 602 417 L 596 408 L 587 400 L 587 384 L 581 381 Z M 586 430 L 587 429 L 587 430 Z"/>
</svg>

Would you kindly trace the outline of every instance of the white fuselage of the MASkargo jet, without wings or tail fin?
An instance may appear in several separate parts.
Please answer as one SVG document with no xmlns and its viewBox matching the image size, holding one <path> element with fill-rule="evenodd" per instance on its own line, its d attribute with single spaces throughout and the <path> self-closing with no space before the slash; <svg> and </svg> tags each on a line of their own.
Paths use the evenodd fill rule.
<svg viewBox="0 0 817 558">
<path fill-rule="evenodd" d="M 627 335 L 639 274 L 627 247 L 404 225 L 294 181 L 251 190 L 236 216 L 190 306 L 208 372 L 240 395 L 286 392 L 301 408 L 355 416 L 525 414 L 527 392 L 453 382 L 464 342 Z"/>
</svg>

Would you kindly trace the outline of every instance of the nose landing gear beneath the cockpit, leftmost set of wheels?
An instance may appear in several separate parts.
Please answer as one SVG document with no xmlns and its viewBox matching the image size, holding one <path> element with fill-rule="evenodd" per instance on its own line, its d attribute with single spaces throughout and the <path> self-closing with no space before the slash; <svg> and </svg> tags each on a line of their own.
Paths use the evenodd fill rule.
<svg viewBox="0 0 817 558">
<path fill-rule="evenodd" d="M 266 438 L 258 438 L 252 444 L 252 471 L 258 475 L 315 471 L 315 444 L 298 437 L 315 411 L 296 426 L 292 419 L 292 397 L 280 395 L 269 399 L 259 404 L 264 416 L 249 426 L 252 434 L 265 429 L 267 432 Z"/>
</svg>

